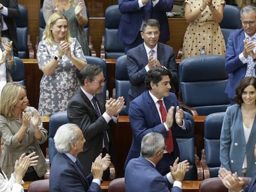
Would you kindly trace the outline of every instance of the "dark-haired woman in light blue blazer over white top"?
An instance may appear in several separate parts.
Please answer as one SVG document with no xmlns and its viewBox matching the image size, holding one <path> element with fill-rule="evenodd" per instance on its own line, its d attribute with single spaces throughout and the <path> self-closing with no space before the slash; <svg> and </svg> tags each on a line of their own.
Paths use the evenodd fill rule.
<svg viewBox="0 0 256 192">
<path fill-rule="evenodd" d="M 224 116 L 220 136 L 221 167 L 239 176 L 256 173 L 256 78 L 245 77 L 236 88 L 236 104 Z"/>
</svg>

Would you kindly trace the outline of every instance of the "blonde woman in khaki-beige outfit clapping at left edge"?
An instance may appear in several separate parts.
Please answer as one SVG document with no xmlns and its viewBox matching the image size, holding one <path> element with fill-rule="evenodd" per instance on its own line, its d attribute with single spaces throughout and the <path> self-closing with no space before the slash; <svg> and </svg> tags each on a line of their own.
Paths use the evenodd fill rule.
<svg viewBox="0 0 256 192">
<path fill-rule="evenodd" d="M 0 167 L 11 177 L 16 159 L 20 155 L 36 152 L 38 164 L 28 167 L 23 180 L 33 181 L 46 173 L 45 156 L 39 144 L 47 140 L 40 115 L 34 107 L 28 107 L 25 88 L 17 83 L 7 83 L 2 89 L 0 99 L 0 130 L 5 148 L 2 150 Z"/>
</svg>

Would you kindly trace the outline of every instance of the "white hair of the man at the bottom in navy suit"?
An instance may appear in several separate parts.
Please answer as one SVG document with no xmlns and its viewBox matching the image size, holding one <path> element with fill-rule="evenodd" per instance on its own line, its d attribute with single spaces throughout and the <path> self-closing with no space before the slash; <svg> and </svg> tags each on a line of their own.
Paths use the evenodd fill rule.
<svg viewBox="0 0 256 192">
<path fill-rule="evenodd" d="M 76 131 L 77 128 L 79 127 L 74 123 L 66 123 L 58 128 L 53 140 L 59 153 L 69 152 L 70 144 L 78 142 L 79 134 Z"/>
</svg>

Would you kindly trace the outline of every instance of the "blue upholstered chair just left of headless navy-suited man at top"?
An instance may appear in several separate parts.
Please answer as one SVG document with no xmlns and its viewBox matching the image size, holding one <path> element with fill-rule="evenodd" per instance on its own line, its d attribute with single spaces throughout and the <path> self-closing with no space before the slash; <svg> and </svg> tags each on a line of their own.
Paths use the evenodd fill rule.
<svg viewBox="0 0 256 192">
<path fill-rule="evenodd" d="M 102 38 L 100 57 L 117 59 L 124 55 L 124 43 L 119 40 L 117 31 L 121 20 L 118 5 L 109 6 L 105 10 L 105 36 Z"/>
</svg>

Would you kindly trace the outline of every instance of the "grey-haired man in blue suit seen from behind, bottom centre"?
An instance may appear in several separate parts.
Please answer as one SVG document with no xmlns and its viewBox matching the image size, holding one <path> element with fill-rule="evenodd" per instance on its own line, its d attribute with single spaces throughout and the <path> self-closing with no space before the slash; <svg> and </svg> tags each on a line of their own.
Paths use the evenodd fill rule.
<svg viewBox="0 0 256 192">
<path fill-rule="evenodd" d="M 126 167 L 124 175 L 126 192 L 168 192 L 171 183 L 173 183 L 171 191 L 182 191 L 181 182 L 186 173 L 184 162 L 175 164 L 174 167 L 171 166 L 171 172 L 164 176 L 156 170 L 156 164 L 163 157 L 164 149 L 164 138 L 160 133 L 148 133 L 143 136 L 141 156 L 131 159 Z"/>
</svg>

